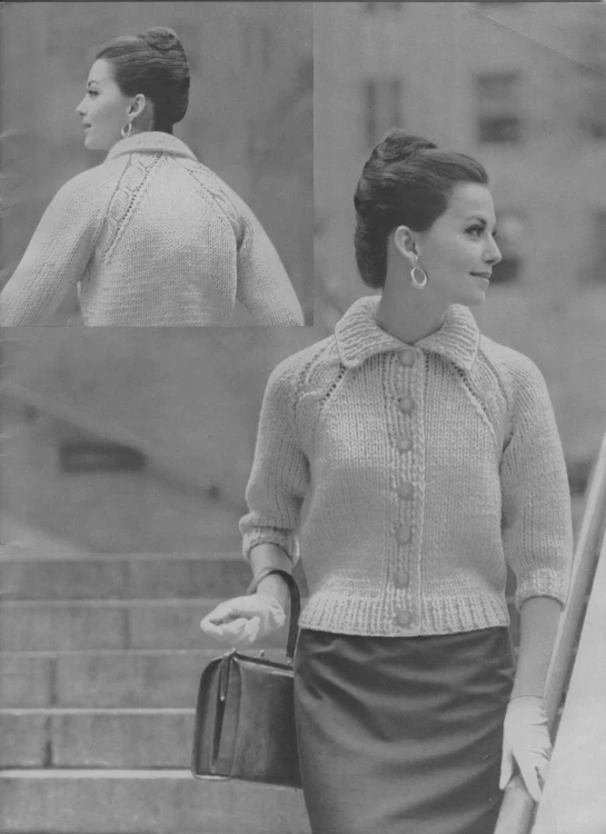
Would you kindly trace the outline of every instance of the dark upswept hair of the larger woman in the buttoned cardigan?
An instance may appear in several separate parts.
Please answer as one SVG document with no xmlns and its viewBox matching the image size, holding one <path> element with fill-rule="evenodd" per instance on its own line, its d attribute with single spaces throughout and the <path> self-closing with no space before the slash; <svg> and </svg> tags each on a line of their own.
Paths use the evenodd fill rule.
<svg viewBox="0 0 606 834">
<path fill-rule="evenodd" d="M 356 262 L 362 281 L 385 284 L 387 236 L 398 226 L 427 231 L 448 208 L 459 182 L 488 185 L 484 167 L 465 153 L 438 150 L 419 136 L 390 130 L 375 147 L 356 188 Z"/>
</svg>

